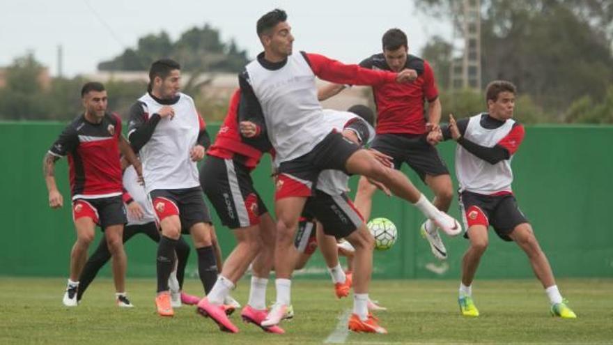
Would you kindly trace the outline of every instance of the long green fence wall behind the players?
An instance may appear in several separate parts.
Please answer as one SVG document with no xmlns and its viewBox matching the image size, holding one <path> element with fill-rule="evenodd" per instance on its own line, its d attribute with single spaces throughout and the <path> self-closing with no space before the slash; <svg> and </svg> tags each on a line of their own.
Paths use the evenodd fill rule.
<svg viewBox="0 0 613 345">
<path fill-rule="evenodd" d="M 64 123 L 0 123 L 0 157 L 5 167 L 0 181 L 0 275 L 68 275 L 70 249 L 75 240 L 70 212 L 68 168 L 65 160 L 56 164 L 56 180 L 65 205 L 51 210 L 42 178 L 42 157 L 64 127 Z M 218 125 L 210 125 L 215 133 Z M 513 191 L 520 208 L 534 227 L 541 247 L 548 255 L 557 277 L 612 277 L 613 225 L 607 221 L 613 194 L 613 127 L 531 126 L 513 159 Z M 439 146 L 453 176 L 455 144 Z M 432 194 L 413 171 L 403 168 L 428 197 Z M 270 160 L 265 158 L 254 171 L 256 188 L 272 210 L 274 186 Z M 456 180 L 453 179 L 457 187 Z M 351 180 L 352 193 L 357 178 Z M 231 252 L 230 231 L 214 223 L 224 254 Z M 449 211 L 460 219 L 457 201 Z M 438 261 L 419 235 L 424 221 L 405 201 L 378 192 L 373 199 L 372 217 L 387 217 L 398 227 L 398 242 L 385 252 L 375 252 L 375 277 L 458 279 L 467 240 L 443 235 L 449 259 Z M 98 245 L 102 233 L 91 251 Z M 155 276 L 156 246 L 146 236 L 135 236 L 126 244 L 128 275 Z M 197 275 L 196 254 L 192 251 L 187 276 Z M 323 277 L 327 274 L 320 254 L 297 275 Z M 109 275 L 104 268 L 101 275 Z M 481 260 L 479 278 L 532 277 L 529 261 L 514 243 L 505 243 L 490 232 L 490 246 Z"/>
</svg>

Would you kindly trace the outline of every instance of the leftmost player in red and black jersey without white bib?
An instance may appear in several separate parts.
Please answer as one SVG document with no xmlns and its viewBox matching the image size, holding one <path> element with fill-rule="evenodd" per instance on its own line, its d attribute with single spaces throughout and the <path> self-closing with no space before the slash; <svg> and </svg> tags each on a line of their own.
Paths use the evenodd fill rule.
<svg viewBox="0 0 613 345">
<path fill-rule="evenodd" d="M 49 191 L 49 206 L 61 208 L 63 197 L 56 186 L 54 165 L 68 155 L 72 219 L 77 240 L 70 253 L 70 277 L 63 297 L 67 307 L 77 306 L 79 275 L 87 258 L 87 249 L 98 224 L 113 257 L 113 277 L 118 304 L 125 297 L 126 257 L 123 250 L 125 208 L 121 200 L 120 152 L 137 174 L 141 163 L 121 134 L 121 119 L 107 112 L 107 91 L 98 82 L 88 82 L 81 89 L 85 112 L 68 125 L 49 148 L 42 169 Z M 128 301 L 129 303 L 129 301 Z"/>
</svg>

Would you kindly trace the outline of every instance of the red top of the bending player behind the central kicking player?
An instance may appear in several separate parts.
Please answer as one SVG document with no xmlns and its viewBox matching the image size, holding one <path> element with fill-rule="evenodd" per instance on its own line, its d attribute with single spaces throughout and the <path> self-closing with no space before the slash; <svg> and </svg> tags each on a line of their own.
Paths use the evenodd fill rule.
<svg viewBox="0 0 613 345">
<path fill-rule="evenodd" d="M 272 146 L 266 136 L 248 139 L 240 135 L 238 125 L 240 98 L 240 89 L 236 89 L 230 98 L 228 114 L 226 114 L 222 127 L 219 128 L 217 138 L 210 147 L 208 154 L 224 159 L 235 158 L 236 155 L 240 155 L 245 160 L 246 167 L 255 168 L 263 153 L 272 151 Z"/>
</svg>

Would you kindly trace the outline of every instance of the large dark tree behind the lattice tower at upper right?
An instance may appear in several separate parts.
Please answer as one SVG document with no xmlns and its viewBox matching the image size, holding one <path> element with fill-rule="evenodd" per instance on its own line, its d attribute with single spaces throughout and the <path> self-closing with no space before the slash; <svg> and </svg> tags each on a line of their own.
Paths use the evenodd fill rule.
<svg viewBox="0 0 613 345">
<path fill-rule="evenodd" d="M 590 95 L 603 100 L 613 80 L 610 0 L 482 0 L 482 82 L 509 79 L 537 105 L 559 114 Z M 453 0 L 418 0 L 450 15 Z M 433 43 L 426 47 L 434 49 Z M 433 61 L 436 63 L 436 61 Z M 437 75 L 442 79 L 445 71 Z"/>
</svg>

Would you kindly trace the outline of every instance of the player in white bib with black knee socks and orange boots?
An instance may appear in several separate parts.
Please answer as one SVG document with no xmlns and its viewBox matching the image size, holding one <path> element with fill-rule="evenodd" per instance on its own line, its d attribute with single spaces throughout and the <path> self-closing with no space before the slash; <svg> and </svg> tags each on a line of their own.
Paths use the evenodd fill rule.
<svg viewBox="0 0 613 345">
<path fill-rule="evenodd" d="M 217 279 L 211 220 L 196 167 L 210 139 L 194 100 L 179 89 L 180 65 L 171 59 L 155 61 L 149 69 L 148 92 L 130 109 L 128 132 L 143 162 L 146 192 L 162 229 L 155 298 L 160 316 L 174 315 L 168 279 L 184 231 L 192 235 L 205 292 Z"/>
</svg>

